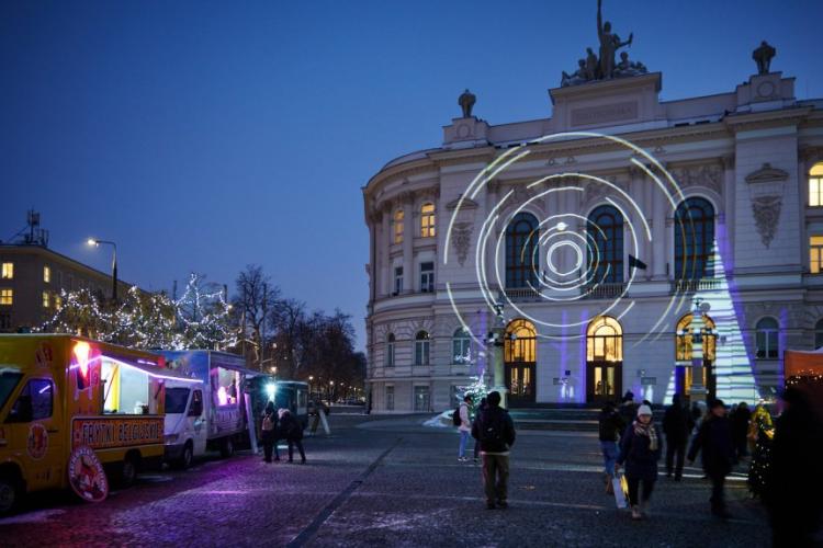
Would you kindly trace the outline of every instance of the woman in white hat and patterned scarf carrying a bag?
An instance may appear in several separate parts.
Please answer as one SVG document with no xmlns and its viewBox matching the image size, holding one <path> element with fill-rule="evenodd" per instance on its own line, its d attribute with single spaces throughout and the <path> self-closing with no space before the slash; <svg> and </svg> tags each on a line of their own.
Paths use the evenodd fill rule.
<svg viewBox="0 0 823 548">
<path fill-rule="evenodd" d="M 640 406 L 636 420 L 625 429 L 620 439 L 620 456 L 616 471 L 625 465 L 632 520 L 641 520 L 644 514 L 649 515 L 649 501 L 652 498 L 654 482 L 657 480 L 661 444 L 657 427 L 653 422 L 652 408 Z M 641 483 L 643 484 L 642 498 Z"/>
</svg>

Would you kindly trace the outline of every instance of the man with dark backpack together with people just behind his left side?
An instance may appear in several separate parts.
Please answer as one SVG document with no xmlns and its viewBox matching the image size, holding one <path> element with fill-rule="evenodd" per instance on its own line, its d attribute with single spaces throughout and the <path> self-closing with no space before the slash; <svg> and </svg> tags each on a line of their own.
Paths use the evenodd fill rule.
<svg viewBox="0 0 823 548">
<path fill-rule="evenodd" d="M 459 420 L 460 446 L 458 460 L 466 461 L 469 435 L 475 439 L 474 460 L 480 455 L 483 467 L 483 488 L 486 507 L 508 507 L 509 449 L 515 444 L 515 423 L 507 410 L 500 407 L 500 392 L 493 391 L 483 398 L 472 416 L 473 398 L 466 395 L 455 413 Z"/>
</svg>

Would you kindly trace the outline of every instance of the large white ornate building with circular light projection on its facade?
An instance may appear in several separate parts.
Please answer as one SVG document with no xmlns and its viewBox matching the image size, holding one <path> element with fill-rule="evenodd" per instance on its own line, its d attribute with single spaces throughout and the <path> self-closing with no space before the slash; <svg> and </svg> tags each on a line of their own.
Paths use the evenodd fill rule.
<svg viewBox="0 0 823 548">
<path fill-rule="evenodd" d="M 500 290 L 511 407 L 688 396 L 695 298 L 721 398 L 774 393 L 786 349 L 823 345 L 823 101 L 768 62 L 668 102 L 661 73 L 572 83 L 551 118 L 469 105 L 363 189 L 374 411 L 448 409 L 488 378 Z"/>
</svg>

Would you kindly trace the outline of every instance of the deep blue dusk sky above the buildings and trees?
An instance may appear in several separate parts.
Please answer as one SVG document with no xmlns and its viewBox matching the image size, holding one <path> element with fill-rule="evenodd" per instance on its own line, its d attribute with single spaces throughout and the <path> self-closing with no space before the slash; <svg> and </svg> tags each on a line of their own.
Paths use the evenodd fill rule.
<svg viewBox="0 0 823 548">
<path fill-rule="evenodd" d="M 688 7 L 688 8 L 687 8 Z M 733 91 L 768 39 L 823 98 L 821 1 L 605 1 L 662 99 Z M 491 124 L 546 117 L 597 50 L 596 2 L 0 3 L 0 239 L 42 213 L 50 248 L 170 289 L 263 265 L 284 295 L 368 300 L 361 186 L 441 144 L 469 87 Z"/>
</svg>

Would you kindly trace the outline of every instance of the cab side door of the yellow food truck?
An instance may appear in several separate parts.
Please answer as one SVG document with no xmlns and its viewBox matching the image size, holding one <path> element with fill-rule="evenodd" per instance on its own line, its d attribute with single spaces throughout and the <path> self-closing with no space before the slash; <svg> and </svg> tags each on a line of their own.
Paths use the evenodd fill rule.
<svg viewBox="0 0 823 548">
<path fill-rule="evenodd" d="M 52 378 L 30 378 L 5 419 L 30 491 L 58 487 L 65 475 L 66 425 L 58 401 Z"/>
</svg>

